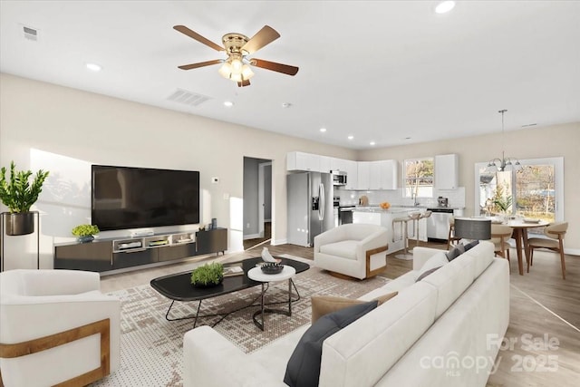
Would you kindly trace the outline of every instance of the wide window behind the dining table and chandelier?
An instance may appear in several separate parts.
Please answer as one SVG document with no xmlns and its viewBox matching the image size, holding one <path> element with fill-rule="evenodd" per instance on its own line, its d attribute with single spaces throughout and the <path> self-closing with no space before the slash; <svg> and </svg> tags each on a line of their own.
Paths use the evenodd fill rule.
<svg viewBox="0 0 580 387">
<path fill-rule="evenodd" d="M 476 164 L 476 215 L 508 214 L 564 219 L 564 159 L 520 160 L 516 171 L 490 172 L 487 163 Z"/>
</svg>

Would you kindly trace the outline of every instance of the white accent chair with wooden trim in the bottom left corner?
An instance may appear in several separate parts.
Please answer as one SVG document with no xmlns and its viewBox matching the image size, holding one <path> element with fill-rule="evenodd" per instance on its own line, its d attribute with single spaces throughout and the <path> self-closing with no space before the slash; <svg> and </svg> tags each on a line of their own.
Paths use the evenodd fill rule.
<svg viewBox="0 0 580 387">
<path fill-rule="evenodd" d="M 98 273 L 0 273 L 0 385 L 86 385 L 119 368 L 121 302 Z"/>
</svg>

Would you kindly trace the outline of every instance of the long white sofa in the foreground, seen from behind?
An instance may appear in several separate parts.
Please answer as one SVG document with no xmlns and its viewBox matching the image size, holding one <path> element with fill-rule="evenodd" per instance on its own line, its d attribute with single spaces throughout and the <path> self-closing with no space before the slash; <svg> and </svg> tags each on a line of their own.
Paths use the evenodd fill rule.
<svg viewBox="0 0 580 387">
<path fill-rule="evenodd" d="M 361 297 L 399 291 L 324 340 L 320 386 L 486 384 L 509 321 L 507 261 L 481 242 L 415 282 L 440 252 L 415 247 L 411 272 Z M 284 386 L 288 359 L 308 327 L 254 353 L 208 326 L 193 329 L 184 337 L 184 385 Z"/>
</svg>

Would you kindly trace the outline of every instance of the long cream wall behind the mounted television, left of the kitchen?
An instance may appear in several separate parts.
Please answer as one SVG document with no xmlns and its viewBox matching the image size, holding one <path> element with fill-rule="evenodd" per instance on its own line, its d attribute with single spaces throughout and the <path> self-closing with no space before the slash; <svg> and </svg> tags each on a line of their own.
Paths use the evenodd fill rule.
<svg viewBox="0 0 580 387">
<path fill-rule="evenodd" d="M 200 171 L 202 223 L 230 228 L 242 249 L 244 157 L 273 160 L 275 244 L 285 242 L 285 154 L 302 150 L 354 160 L 356 151 L 168 111 L 91 92 L 0 74 L 0 166 L 51 172 L 41 210 L 41 267 L 53 267 L 53 243 L 91 216 L 90 165 Z M 195 109 L 192 108 L 195 112 Z M 210 179 L 218 177 L 218 184 Z M 5 207 L 1 208 L 3 211 Z M 172 231 L 184 227 L 159 227 Z M 185 227 L 192 228 L 192 227 Z M 128 232 L 103 232 L 102 237 Z M 6 237 L 5 268 L 35 267 L 36 239 Z"/>
</svg>

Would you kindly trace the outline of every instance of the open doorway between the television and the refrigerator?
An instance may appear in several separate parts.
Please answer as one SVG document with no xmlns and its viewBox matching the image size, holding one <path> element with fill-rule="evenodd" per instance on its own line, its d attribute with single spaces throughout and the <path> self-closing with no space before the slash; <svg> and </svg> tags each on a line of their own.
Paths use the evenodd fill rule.
<svg viewBox="0 0 580 387">
<path fill-rule="evenodd" d="M 244 249 L 272 237 L 272 160 L 244 158 Z"/>
</svg>

